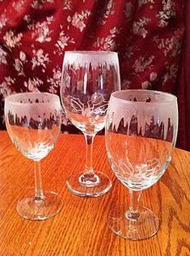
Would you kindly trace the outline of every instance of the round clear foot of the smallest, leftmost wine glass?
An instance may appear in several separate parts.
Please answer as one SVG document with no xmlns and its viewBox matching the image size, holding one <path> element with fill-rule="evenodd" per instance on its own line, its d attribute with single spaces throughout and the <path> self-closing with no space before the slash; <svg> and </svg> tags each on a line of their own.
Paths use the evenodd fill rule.
<svg viewBox="0 0 190 256">
<path fill-rule="evenodd" d="M 34 197 L 23 198 L 17 203 L 16 210 L 24 219 L 50 219 L 61 210 L 61 197 L 52 191 L 44 192 L 44 199 L 36 201 Z"/>
</svg>

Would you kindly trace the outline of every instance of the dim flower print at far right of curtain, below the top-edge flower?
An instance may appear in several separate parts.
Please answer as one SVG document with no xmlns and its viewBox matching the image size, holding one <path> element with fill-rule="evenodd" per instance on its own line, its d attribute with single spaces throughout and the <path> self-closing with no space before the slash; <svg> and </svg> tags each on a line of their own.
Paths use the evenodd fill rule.
<svg viewBox="0 0 190 256">
<path fill-rule="evenodd" d="M 171 38 L 159 38 L 157 35 L 153 38 L 153 41 L 157 43 L 158 49 L 163 50 L 164 56 L 170 53 L 171 57 L 176 57 L 180 54 L 182 33 L 184 33 L 183 30 L 177 29 Z"/>
</svg>

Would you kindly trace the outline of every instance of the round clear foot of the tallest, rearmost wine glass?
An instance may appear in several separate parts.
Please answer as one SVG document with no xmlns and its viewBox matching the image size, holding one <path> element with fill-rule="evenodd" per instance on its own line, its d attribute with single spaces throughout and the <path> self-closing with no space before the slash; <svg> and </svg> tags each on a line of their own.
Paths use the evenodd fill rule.
<svg viewBox="0 0 190 256">
<path fill-rule="evenodd" d="M 96 182 L 93 185 L 85 184 L 85 182 L 81 182 L 81 177 L 83 173 L 78 173 L 73 176 L 70 176 L 68 180 L 66 180 L 66 186 L 70 190 L 71 193 L 74 193 L 80 197 L 99 197 L 108 193 L 110 189 L 112 189 L 112 181 L 103 174 L 102 172 L 95 172 Z M 97 182 L 98 180 L 98 182 Z"/>
</svg>

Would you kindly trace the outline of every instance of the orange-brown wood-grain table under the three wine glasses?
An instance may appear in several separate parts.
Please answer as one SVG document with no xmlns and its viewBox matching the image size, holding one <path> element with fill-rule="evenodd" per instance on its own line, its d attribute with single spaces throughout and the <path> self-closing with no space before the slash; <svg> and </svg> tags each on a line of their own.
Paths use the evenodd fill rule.
<svg viewBox="0 0 190 256">
<path fill-rule="evenodd" d="M 112 191 L 87 198 L 66 189 L 66 178 L 82 170 L 84 156 L 82 136 L 60 136 L 41 165 L 44 189 L 57 191 L 64 207 L 53 219 L 22 219 L 15 204 L 34 187 L 33 163 L 19 154 L 6 132 L 0 131 L 0 255 L 190 255 L 189 152 L 175 150 L 161 180 L 142 193 L 142 205 L 154 210 L 162 221 L 157 235 L 146 241 L 125 241 L 107 226 L 108 211 L 127 203 L 129 193 L 112 173 L 104 137 L 95 138 L 94 166 L 111 177 Z"/>
</svg>

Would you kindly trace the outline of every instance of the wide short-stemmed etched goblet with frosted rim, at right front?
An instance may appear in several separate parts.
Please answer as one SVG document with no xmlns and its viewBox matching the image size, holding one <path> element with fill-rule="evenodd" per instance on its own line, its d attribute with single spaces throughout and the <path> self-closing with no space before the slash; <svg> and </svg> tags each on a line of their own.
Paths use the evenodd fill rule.
<svg viewBox="0 0 190 256">
<path fill-rule="evenodd" d="M 116 206 L 108 215 L 108 227 L 117 235 L 141 240 L 158 232 L 157 216 L 139 204 L 141 191 L 166 171 L 177 130 L 174 95 L 141 89 L 112 93 L 106 147 L 112 170 L 129 189 L 129 206 Z"/>
</svg>

